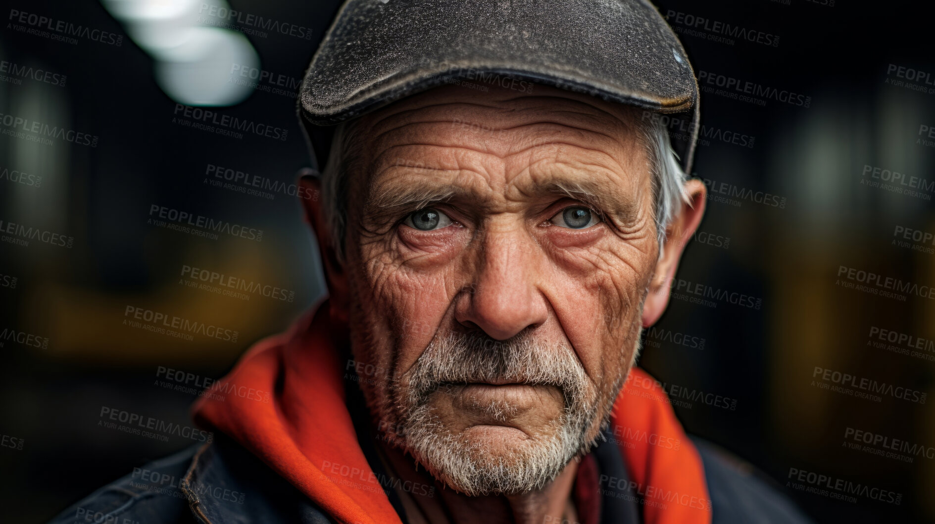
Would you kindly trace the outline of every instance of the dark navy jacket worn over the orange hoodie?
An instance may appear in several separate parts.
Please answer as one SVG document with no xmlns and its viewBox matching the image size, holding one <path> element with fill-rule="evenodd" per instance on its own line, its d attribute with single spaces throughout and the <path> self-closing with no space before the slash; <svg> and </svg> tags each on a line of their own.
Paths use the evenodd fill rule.
<svg viewBox="0 0 935 524">
<path fill-rule="evenodd" d="M 705 441 L 693 439 L 704 463 L 712 499 L 712 521 L 721 523 L 808 522 L 794 505 L 746 463 Z M 612 441 L 611 441 L 612 442 Z M 592 452 L 601 474 L 626 478 L 617 446 L 604 442 Z M 379 464 L 375 464 L 379 468 Z M 618 482 L 618 486 L 626 482 Z M 640 497 L 621 489 L 600 495 L 601 524 L 640 522 Z M 391 501 L 392 489 L 387 491 Z M 398 501 L 394 505 L 401 506 Z M 400 515 L 406 521 L 404 515 Z M 252 453 L 220 437 L 207 445 L 134 468 L 51 520 L 53 524 L 161 524 L 197 522 L 335 522 L 266 467 Z"/>
</svg>

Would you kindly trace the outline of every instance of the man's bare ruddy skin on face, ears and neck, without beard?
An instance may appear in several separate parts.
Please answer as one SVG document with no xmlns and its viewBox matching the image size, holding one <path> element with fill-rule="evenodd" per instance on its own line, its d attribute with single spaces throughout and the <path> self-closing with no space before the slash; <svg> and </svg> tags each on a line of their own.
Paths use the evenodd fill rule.
<svg viewBox="0 0 935 524">
<path fill-rule="evenodd" d="M 533 94 L 446 86 L 361 120 L 365 156 L 351 175 L 346 256 L 340 264 L 323 258 L 333 314 L 348 319 L 354 358 L 387 370 L 362 377 L 368 403 L 391 398 L 395 381 L 434 336 L 465 329 L 496 340 L 528 331 L 539 340 L 565 341 L 599 404 L 612 403 L 640 326 L 665 310 L 666 284 L 705 202 L 704 184 L 690 180 L 692 205 L 683 205 L 669 226 L 659 258 L 638 114 L 539 86 Z M 303 183 L 317 189 L 315 180 Z M 442 198 L 426 205 L 432 194 Z M 320 203 L 305 202 L 327 251 L 335 240 Z M 442 218 L 434 231 L 413 227 L 407 217 L 426 206 L 451 223 L 440 227 Z M 593 224 L 563 227 L 569 206 L 594 210 Z M 480 407 L 492 401 L 505 410 Z M 535 446 L 539 435 L 554 432 L 565 407 L 554 387 L 481 384 L 439 390 L 431 406 L 449 432 L 494 458 Z M 599 431 L 600 415 L 589 438 Z M 386 452 L 398 474 L 433 482 L 410 457 Z M 433 522 L 561 522 L 575 516 L 569 494 L 576 469 L 572 460 L 539 491 L 467 497 L 442 489 L 440 497 L 414 499 Z"/>
</svg>

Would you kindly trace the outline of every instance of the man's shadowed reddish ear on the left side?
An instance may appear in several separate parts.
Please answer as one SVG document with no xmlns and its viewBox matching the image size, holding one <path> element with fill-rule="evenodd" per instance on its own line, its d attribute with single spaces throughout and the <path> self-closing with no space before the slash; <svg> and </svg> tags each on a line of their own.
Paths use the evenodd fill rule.
<svg viewBox="0 0 935 524">
<path fill-rule="evenodd" d="M 347 276 L 344 273 L 344 265 L 338 262 L 338 252 L 335 249 L 336 239 L 331 238 L 331 230 L 324 220 L 322 180 L 314 171 L 304 169 L 299 172 L 298 186 L 305 221 L 315 233 L 318 249 L 322 254 L 322 267 L 324 268 L 324 281 L 328 286 L 331 317 L 333 320 L 347 322 Z"/>
</svg>

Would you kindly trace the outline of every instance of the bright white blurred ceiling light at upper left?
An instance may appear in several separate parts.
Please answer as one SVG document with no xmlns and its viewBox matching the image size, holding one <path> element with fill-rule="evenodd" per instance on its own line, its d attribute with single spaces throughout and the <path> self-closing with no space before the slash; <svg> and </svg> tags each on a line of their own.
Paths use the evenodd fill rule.
<svg viewBox="0 0 935 524">
<path fill-rule="evenodd" d="M 127 35 L 155 61 L 165 94 L 188 106 L 233 106 L 253 92 L 236 82 L 237 70 L 259 68 L 246 36 L 215 27 L 226 21 L 209 13 L 230 12 L 223 0 L 101 0 Z"/>
</svg>

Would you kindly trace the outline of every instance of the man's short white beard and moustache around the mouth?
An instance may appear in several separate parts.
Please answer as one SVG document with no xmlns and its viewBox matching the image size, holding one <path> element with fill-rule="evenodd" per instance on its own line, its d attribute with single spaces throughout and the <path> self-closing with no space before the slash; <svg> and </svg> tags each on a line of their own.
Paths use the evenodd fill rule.
<svg viewBox="0 0 935 524">
<path fill-rule="evenodd" d="M 564 343 L 543 345 L 530 336 L 495 341 L 482 333 L 453 333 L 425 348 L 379 411 L 381 420 L 392 421 L 389 427 L 394 431 L 387 432 L 388 440 L 410 452 L 449 487 L 469 496 L 519 494 L 542 489 L 570 460 L 595 444 L 596 419 L 601 417 L 597 427 L 606 423 L 625 378 L 618 377 L 601 402 L 581 362 Z M 483 442 L 453 434 L 433 415 L 428 402 L 433 391 L 449 384 L 497 379 L 555 386 L 562 391 L 565 406 L 548 429 L 495 454 Z M 496 419 L 511 416 L 504 403 L 482 408 Z"/>
</svg>

